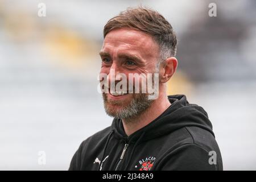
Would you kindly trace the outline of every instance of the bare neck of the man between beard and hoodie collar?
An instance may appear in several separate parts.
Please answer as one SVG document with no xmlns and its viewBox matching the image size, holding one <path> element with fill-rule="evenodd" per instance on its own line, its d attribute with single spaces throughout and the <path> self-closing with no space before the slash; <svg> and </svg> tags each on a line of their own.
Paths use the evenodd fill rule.
<svg viewBox="0 0 256 182">
<path fill-rule="evenodd" d="M 161 115 L 170 105 L 171 103 L 169 102 L 167 95 L 162 94 L 161 96 L 159 94 L 159 97 L 154 100 L 142 114 L 134 118 L 122 119 L 123 129 L 125 129 L 126 135 L 129 136 L 154 121 L 154 119 L 159 117 L 159 115 Z"/>
</svg>

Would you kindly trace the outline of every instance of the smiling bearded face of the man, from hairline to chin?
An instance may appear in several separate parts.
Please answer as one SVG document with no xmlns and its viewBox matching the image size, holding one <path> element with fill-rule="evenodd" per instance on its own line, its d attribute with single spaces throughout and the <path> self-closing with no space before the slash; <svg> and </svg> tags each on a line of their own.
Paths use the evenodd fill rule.
<svg viewBox="0 0 256 182">
<path fill-rule="evenodd" d="M 155 73 L 159 48 L 151 36 L 143 32 L 118 28 L 106 35 L 100 56 L 100 73 L 109 75 L 110 69 L 114 69 L 115 75 L 123 73 L 128 79 L 129 73 Z M 117 82 L 111 80 L 111 77 L 109 81 Z M 147 93 L 127 93 L 121 96 L 103 93 L 103 98 L 106 113 L 118 118 L 132 118 L 152 103 Z"/>
</svg>

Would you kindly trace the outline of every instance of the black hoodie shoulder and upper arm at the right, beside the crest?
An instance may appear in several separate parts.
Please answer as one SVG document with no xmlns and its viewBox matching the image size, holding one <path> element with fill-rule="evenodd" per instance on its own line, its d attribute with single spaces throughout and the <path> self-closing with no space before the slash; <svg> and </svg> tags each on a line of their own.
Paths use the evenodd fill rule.
<svg viewBox="0 0 256 182">
<path fill-rule="evenodd" d="M 220 150 L 209 131 L 188 126 L 176 130 L 171 138 L 174 143 L 162 153 L 156 170 L 222 170 Z M 209 162 L 213 155 L 214 165 Z"/>
</svg>

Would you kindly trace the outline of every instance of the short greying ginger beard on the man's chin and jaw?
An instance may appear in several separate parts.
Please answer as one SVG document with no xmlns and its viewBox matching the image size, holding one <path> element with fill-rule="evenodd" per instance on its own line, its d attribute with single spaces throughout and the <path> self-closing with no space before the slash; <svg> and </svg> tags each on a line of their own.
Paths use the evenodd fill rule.
<svg viewBox="0 0 256 182">
<path fill-rule="evenodd" d="M 129 101 L 108 100 L 106 93 L 102 93 L 102 97 L 106 114 L 121 119 L 131 119 L 142 114 L 153 102 L 146 93 L 133 93 Z"/>
</svg>

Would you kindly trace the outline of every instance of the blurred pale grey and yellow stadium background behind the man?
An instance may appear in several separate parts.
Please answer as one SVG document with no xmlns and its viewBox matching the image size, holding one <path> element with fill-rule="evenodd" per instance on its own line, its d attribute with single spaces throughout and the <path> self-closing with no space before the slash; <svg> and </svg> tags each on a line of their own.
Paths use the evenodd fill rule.
<svg viewBox="0 0 256 182">
<path fill-rule="evenodd" d="M 102 30 L 138 5 L 177 34 L 168 93 L 208 112 L 225 170 L 256 169 L 254 0 L 0 0 L 0 169 L 67 170 L 82 140 L 112 123 L 97 92 Z"/>
</svg>

